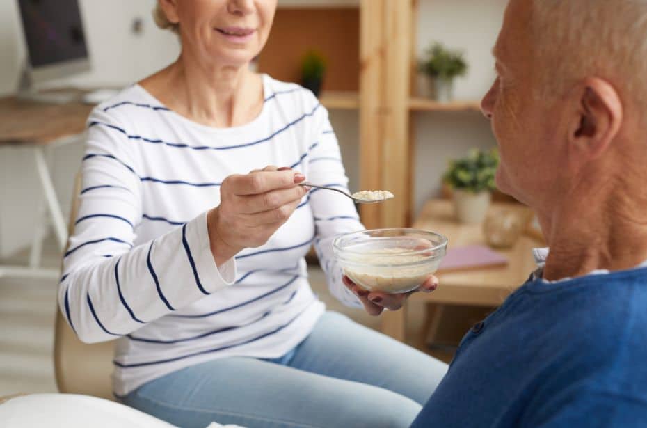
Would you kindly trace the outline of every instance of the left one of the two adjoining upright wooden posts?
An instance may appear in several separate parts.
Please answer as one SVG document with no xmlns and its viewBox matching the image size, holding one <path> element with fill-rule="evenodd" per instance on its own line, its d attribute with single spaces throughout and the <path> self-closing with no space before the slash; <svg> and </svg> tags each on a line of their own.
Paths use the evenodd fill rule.
<svg viewBox="0 0 647 428">
<path fill-rule="evenodd" d="M 360 4 L 360 188 L 383 189 L 382 120 L 384 0 L 361 0 Z M 362 223 L 380 228 L 381 205 L 361 205 Z"/>
</svg>

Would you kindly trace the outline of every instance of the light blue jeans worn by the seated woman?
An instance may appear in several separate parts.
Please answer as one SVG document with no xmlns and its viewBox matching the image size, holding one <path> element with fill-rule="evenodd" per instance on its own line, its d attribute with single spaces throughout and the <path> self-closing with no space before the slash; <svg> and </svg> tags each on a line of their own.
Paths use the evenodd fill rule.
<svg viewBox="0 0 647 428">
<path fill-rule="evenodd" d="M 408 427 L 447 365 L 326 312 L 277 360 L 221 358 L 150 381 L 123 402 L 183 428 Z"/>
</svg>

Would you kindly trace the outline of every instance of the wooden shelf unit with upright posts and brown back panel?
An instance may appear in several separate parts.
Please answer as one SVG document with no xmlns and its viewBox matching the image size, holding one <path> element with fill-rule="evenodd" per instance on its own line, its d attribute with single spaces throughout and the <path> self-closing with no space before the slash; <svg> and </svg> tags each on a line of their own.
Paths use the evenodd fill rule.
<svg viewBox="0 0 647 428">
<path fill-rule="evenodd" d="M 328 59 L 319 99 L 328 109 L 359 113 L 359 187 L 388 189 L 401 201 L 362 205 L 367 228 L 413 221 L 415 115 L 480 111 L 477 101 L 442 104 L 413 95 L 418 1 L 317 0 L 306 7 L 310 1 L 284 0 L 259 57 L 260 71 L 286 81 L 298 81 L 308 49 Z"/>
</svg>

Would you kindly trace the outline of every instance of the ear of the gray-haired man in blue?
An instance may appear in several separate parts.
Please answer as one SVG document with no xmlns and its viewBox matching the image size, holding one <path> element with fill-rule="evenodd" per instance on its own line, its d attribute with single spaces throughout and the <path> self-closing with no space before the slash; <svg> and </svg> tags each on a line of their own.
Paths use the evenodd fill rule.
<svg viewBox="0 0 647 428">
<path fill-rule="evenodd" d="M 574 91 L 577 110 L 569 132 L 569 146 L 577 159 L 599 157 L 612 144 L 623 122 L 623 105 L 612 84 L 589 77 Z"/>
</svg>

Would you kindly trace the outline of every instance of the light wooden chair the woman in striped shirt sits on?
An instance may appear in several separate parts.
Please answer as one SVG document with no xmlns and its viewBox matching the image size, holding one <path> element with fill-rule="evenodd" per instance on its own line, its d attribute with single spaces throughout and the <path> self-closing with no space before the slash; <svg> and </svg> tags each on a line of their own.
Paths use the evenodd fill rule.
<svg viewBox="0 0 647 428">
<path fill-rule="evenodd" d="M 70 235 L 74 232 L 74 221 L 79 209 L 79 193 L 81 193 L 80 173 L 77 174 L 74 184 L 72 211 L 68 226 Z M 56 308 L 54 371 L 58 391 L 113 400 L 110 375 L 113 371 L 112 360 L 115 342 L 97 344 L 81 342 L 67 324 L 61 309 L 58 308 L 58 303 Z"/>
</svg>

